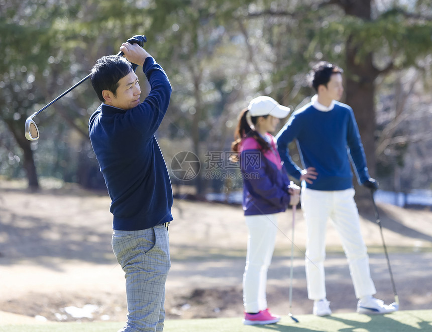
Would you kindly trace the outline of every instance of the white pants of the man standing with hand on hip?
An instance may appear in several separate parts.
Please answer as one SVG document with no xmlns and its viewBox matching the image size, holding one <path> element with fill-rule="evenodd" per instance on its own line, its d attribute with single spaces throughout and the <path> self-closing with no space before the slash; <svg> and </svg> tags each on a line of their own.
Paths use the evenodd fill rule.
<svg viewBox="0 0 432 332">
<path fill-rule="evenodd" d="M 348 259 L 357 298 L 376 293 L 370 276 L 369 256 L 360 230 L 354 189 L 323 191 L 302 188 L 301 207 L 306 221 L 306 281 L 309 299 L 326 298 L 324 260 L 330 217 Z"/>
</svg>

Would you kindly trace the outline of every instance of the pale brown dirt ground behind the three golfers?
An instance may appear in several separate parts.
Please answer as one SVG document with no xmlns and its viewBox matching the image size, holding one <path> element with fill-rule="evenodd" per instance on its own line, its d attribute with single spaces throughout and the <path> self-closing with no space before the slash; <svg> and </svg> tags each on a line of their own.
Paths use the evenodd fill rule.
<svg viewBox="0 0 432 332">
<path fill-rule="evenodd" d="M 111 249 L 110 199 L 49 183 L 31 193 L 0 181 L 0 311 L 39 320 L 124 321 L 125 281 Z M 378 204 L 400 309 L 432 307 L 432 212 Z M 168 319 L 242 317 L 247 229 L 237 205 L 175 200 L 169 227 L 172 267 Z M 268 274 L 272 311 L 289 312 L 292 211 L 279 217 Z M 379 227 L 372 207 L 361 218 L 377 297 L 393 302 Z M 304 273 L 305 227 L 295 215 L 292 313 L 311 313 Z M 333 312 L 353 312 L 357 300 L 340 241 L 327 233 L 327 294 Z"/>
</svg>

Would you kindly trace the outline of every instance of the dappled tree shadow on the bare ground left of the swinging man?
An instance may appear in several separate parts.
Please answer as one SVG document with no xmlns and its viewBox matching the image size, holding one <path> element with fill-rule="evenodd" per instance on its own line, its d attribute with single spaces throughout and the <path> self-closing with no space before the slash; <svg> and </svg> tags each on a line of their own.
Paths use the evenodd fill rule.
<svg viewBox="0 0 432 332">
<path fill-rule="evenodd" d="M 29 259 L 57 270 L 56 264 L 50 263 L 47 258 L 95 264 L 115 263 L 111 235 L 104 230 L 95 230 L 91 225 L 55 224 L 32 215 L 18 216 L 1 207 L 0 215 L 0 233 L 4 235 L 0 244 L 2 265 L 13 265 L 17 261 Z"/>
</svg>

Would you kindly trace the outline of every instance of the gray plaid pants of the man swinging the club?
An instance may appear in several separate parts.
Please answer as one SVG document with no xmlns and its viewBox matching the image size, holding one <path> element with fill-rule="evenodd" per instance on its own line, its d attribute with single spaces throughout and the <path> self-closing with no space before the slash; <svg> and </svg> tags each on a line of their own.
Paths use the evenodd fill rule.
<svg viewBox="0 0 432 332">
<path fill-rule="evenodd" d="M 113 251 L 125 271 L 128 321 L 118 332 L 160 332 L 165 320 L 165 281 L 171 267 L 168 228 L 117 231 Z"/>
</svg>

